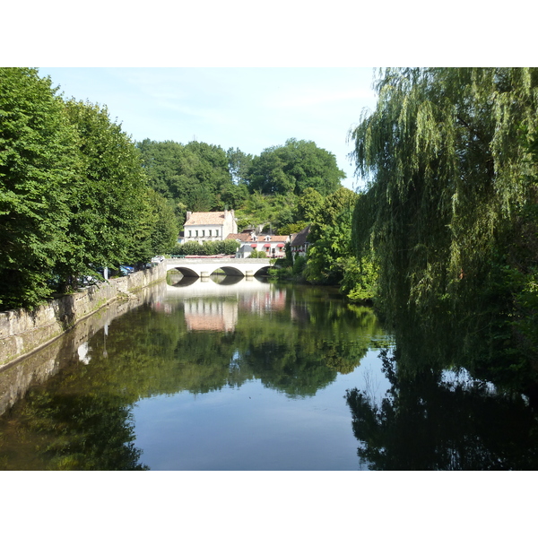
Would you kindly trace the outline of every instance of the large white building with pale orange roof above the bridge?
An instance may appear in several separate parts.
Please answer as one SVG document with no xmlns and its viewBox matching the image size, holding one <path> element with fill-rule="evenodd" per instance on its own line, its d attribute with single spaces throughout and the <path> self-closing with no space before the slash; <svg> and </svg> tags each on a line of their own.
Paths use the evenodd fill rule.
<svg viewBox="0 0 538 538">
<path fill-rule="evenodd" d="M 228 211 L 212 211 L 193 213 L 187 211 L 187 221 L 184 225 L 183 238 L 180 243 L 187 241 L 222 241 L 230 233 L 238 232 L 238 223 L 235 220 L 233 209 Z"/>
</svg>

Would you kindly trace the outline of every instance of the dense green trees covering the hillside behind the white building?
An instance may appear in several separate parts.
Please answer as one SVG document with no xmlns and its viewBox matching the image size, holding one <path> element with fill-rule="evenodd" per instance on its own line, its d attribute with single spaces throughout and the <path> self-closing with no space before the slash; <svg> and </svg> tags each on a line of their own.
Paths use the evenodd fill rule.
<svg viewBox="0 0 538 538">
<path fill-rule="evenodd" d="M 136 145 L 151 187 L 173 205 L 180 227 L 187 211 L 228 207 L 236 210 L 240 229 L 299 231 L 310 220 L 312 206 L 345 177 L 332 153 L 304 140 L 290 139 L 254 157 L 239 148 L 224 152 L 199 142 L 146 139 Z"/>
</svg>

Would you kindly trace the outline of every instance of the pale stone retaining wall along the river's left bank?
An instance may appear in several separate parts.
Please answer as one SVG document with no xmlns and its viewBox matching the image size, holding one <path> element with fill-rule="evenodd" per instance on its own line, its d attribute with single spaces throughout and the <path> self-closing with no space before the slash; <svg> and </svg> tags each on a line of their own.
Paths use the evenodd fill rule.
<svg viewBox="0 0 538 538">
<path fill-rule="evenodd" d="M 53 299 L 36 310 L 0 312 L 0 369 L 47 345 L 84 317 L 166 278 L 165 263 Z"/>
</svg>

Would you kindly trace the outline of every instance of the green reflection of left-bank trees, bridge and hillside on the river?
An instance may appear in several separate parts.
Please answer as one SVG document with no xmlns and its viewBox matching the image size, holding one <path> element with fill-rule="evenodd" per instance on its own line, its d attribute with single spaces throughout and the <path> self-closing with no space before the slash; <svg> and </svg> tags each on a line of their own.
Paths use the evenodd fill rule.
<svg viewBox="0 0 538 538">
<path fill-rule="evenodd" d="M 356 369 L 372 340 L 389 341 L 371 310 L 328 289 L 256 278 L 167 284 L 70 346 L 56 375 L 0 417 L 0 468 L 143 469 L 137 403 L 255 382 L 301 401 Z"/>
</svg>

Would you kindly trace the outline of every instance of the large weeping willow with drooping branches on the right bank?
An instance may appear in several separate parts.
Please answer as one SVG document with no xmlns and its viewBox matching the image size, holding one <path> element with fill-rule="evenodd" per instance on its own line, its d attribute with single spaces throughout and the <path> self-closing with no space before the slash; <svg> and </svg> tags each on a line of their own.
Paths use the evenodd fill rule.
<svg viewBox="0 0 538 538">
<path fill-rule="evenodd" d="M 353 230 L 377 257 L 381 308 L 486 334 L 516 307 L 496 268 L 516 263 L 506 249 L 533 196 L 522 133 L 538 124 L 538 70 L 386 69 L 375 87 L 376 109 L 351 132 L 367 178 Z"/>
</svg>

